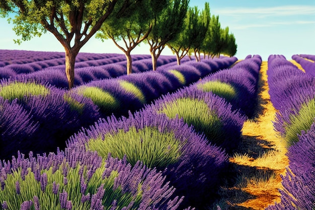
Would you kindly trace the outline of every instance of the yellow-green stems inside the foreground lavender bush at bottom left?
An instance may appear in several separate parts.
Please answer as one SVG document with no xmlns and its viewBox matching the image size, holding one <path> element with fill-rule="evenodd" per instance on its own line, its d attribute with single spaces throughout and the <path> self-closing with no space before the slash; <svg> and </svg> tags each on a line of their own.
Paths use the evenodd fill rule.
<svg viewBox="0 0 315 210">
<path fill-rule="evenodd" d="M 67 165 L 65 162 L 63 164 Z M 65 190 L 68 193 L 68 200 L 71 200 L 72 202 L 72 209 L 89 210 L 91 208 L 91 201 L 81 202 L 81 176 L 79 173 L 81 166 L 78 165 L 75 168 L 68 168 L 68 183 L 66 185 L 64 185 L 64 177 L 61 173 L 62 166 L 60 166 L 55 173 L 52 173 L 52 167 L 40 170 L 40 173 L 46 173 L 48 178 L 45 192 L 42 191 L 40 182 L 35 180 L 34 173 L 30 168 L 28 169 L 28 174 L 25 176 L 25 180 L 22 180 L 20 170 L 14 171 L 12 174 L 9 174 L 4 181 L 5 189 L 0 190 L 0 200 L 7 201 L 9 209 L 20 209 L 23 201 L 33 200 L 33 197 L 36 195 L 39 198 L 40 209 L 61 209 L 59 194 Z M 86 167 L 83 168 L 83 177 L 87 177 L 88 169 Z M 87 178 L 84 178 L 87 183 L 85 194 L 95 194 L 98 188 L 104 184 L 105 195 L 103 196 L 102 204 L 105 207 L 110 208 L 114 199 L 117 200 L 117 203 L 121 203 L 120 206 L 127 206 L 132 200 L 135 201 L 134 205 L 137 205 L 140 202 L 142 194 L 140 190 L 141 186 L 138 188 L 136 197 L 133 197 L 131 193 L 123 193 L 121 187 L 113 190 L 114 180 L 115 177 L 118 176 L 118 173 L 117 171 L 112 171 L 109 177 L 102 179 L 101 177 L 104 170 L 105 161 L 103 160 L 102 166 L 96 169 L 95 174 L 93 174 L 89 181 L 86 180 Z M 21 193 L 19 195 L 16 193 L 17 181 L 20 184 Z M 52 192 L 53 182 L 59 184 L 57 194 Z"/>
</svg>

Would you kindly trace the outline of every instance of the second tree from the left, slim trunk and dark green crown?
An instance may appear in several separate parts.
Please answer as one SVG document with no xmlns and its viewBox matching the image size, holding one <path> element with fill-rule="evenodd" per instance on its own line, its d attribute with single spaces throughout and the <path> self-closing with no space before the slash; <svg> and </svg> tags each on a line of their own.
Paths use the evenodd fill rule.
<svg viewBox="0 0 315 210">
<path fill-rule="evenodd" d="M 121 7 L 115 7 L 96 35 L 102 41 L 112 39 L 115 45 L 125 53 L 127 74 L 132 73 L 131 51 L 147 38 L 152 30 L 154 18 L 160 15 L 170 1 L 145 0 L 135 2 L 137 4 L 134 4 L 128 13 L 121 13 Z M 123 44 L 119 45 L 118 41 L 121 40 Z"/>
</svg>

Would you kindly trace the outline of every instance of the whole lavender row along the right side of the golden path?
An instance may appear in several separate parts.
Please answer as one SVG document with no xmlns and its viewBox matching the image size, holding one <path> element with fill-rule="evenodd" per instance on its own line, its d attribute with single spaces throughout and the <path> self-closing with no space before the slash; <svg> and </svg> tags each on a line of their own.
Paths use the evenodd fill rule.
<svg viewBox="0 0 315 210">
<path fill-rule="evenodd" d="M 274 127 L 286 143 L 290 163 L 282 176 L 281 202 L 266 209 L 314 209 L 314 77 L 282 55 L 269 56 L 267 75 L 270 99 L 278 110 Z"/>
</svg>

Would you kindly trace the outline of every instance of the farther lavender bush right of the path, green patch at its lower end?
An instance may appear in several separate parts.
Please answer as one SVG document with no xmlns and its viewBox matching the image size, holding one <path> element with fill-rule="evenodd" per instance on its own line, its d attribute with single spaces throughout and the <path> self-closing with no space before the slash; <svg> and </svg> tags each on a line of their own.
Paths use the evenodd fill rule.
<svg viewBox="0 0 315 210">
<path fill-rule="evenodd" d="M 309 129 L 314 121 L 314 80 L 283 57 L 269 59 L 269 92 L 271 101 L 279 108 L 274 126 L 290 147 L 298 141 L 297 134 Z"/>
</svg>

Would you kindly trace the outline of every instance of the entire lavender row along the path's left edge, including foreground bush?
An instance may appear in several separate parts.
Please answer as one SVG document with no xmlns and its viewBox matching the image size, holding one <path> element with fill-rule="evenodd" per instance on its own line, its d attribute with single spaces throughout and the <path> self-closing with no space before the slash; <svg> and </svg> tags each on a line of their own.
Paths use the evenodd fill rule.
<svg viewBox="0 0 315 210">
<path fill-rule="evenodd" d="M 244 94 L 238 93 L 240 97 L 247 96 L 257 85 L 254 81 L 258 78 L 253 76 L 259 71 L 259 63 L 261 58 L 254 56 L 222 71 L 229 78 L 228 71 L 235 71 L 236 76 L 242 72 L 240 69 L 248 69 L 243 79 L 253 83 L 239 79 L 225 79 L 222 83 L 231 85 L 235 90 L 249 87 Z M 252 67 L 248 68 L 248 65 Z M 213 81 L 211 77 L 215 75 L 209 76 L 209 80 Z M 223 77 L 222 73 L 220 75 Z M 243 114 L 233 110 L 224 98 L 215 95 L 215 90 L 200 88 L 204 82 L 206 79 L 166 97 L 170 100 L 165 107 L 174 104 L 171 109 L 181 111 L 178 114 L 183 118 L 169 116 L 166 110 L 160 113 L 159 105 L 163 100 L 159 99 L 128 118 L 112 116 L 73 135 L 65 152 L 37 155 L 37 158 L 30 153 L 29 159 L 19 155 L 18 159 L 13 158 L 12 164 L 4 163 L 0 174 L 2 207 L 30 209 L 34 206 L 35 209 L 42 209 L 53 205 L 56 209 L 83 210 L 104 207 L 183 209 L 192 205 L 204 208 L 215 198 L 221 178 L 228 173 L 227 155 L 213 145 L 211 137 L 197 134 L 195 123 L 189 126 L 184 121 L 196 115 L 199 115 L 197 121 L 213 118 L 214 121 L 208 126 L 216 127 L 217 132 L 225 136 L 226 130 L 235 130 L 240 135 L 246 119 Z M 181 103 L 185 99 L 187 101 Z M 190 110 L 186 108 L 187 105 L 195 106 L 199 112 L 192 109 L 189 115 L 185 115 L 185 111 Z M 208 128 L 204 127 L 199 132 Z M 238 135 L 225 140 L 233 144 L 233 141 L 239 141 Z M 103 150 L 103 154 L 100 150 Z M 112 155 L 119 159 L 112 158 Z M 137 160 L 162 172 L 148 169 Z"/>
</svg>

